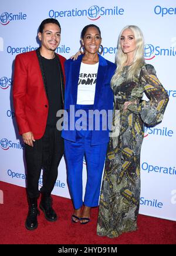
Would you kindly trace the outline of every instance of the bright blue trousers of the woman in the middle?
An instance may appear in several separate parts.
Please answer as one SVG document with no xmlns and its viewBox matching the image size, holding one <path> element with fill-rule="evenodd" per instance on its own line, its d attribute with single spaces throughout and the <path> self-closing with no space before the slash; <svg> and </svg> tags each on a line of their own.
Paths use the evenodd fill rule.
<svg viewBox="0 0 176 256">
<path fill-rule="evenodd" d="M 67 165 L 67 182 L 75 209 L 99 205 L 101 177 L 107 144 L 91 145 L 91 131 L 76 131 L 76 142 L 64 140 Z M 87 183 L 83 201 L 83 157 L 87 164 Z"/>
</svg>

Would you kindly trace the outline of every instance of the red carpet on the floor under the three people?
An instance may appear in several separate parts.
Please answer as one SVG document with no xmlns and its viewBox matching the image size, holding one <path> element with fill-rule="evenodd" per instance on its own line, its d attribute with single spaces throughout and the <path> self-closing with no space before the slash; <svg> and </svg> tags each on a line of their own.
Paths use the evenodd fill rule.
<svg viewBox="0 0 176 256">
<path fill-rule="evenodd" d="M 4 204 L 0 204 L 0 244 L 176 244 L 176 221 L 138 216 L 138 230 L 106 238 L 96 235 L 97 208 L 92 209 L 87 225 L 71 223 L 71 200 L 52 196 L 59 220 L 50 223 L 40 211 L 39 226 L 34 231 L 25 228 L 28 213 L 25 188 L 0 181 Z"/>
</svg>

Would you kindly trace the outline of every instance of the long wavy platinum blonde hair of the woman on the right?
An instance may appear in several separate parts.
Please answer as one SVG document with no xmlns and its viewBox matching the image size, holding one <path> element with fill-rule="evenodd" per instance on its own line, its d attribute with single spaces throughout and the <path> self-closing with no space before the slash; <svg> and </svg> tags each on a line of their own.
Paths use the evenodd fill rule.
<svg viewBox="0 0 176 256">
<path fill-rule="evenodd" d="M 128 69 L 126 81 L 132 81 L 134 77 L 137 75 L 141 65 L 144 65 L 145 63 L 143 32 L 141 32 L 141 29 L 138 28 L 138 26 L 134 26 L 134 25 L 125 26 L 120 32 L 118 43 L 117 43 L 117 53 L 116 53 L 117 69 L 116 69 L 116 72 L 114 73 L 113 78 L 111 79 L 112 84 L 114 84 L 115 80 L 119 78 L 119 76 L 121 75 L 121 71 L 123 70 L 123 67 L 127 61 L 127 55 L 123 53 L 123 50 L 121 49 L 121 46 L 120 46 L 121 34 L 125 29 L 131 29 L 131 31 L 133 31 L 134 33 L 134 38 L 136 39 L 136 51 L 134 52 L 134 60 L 133 60 L 133 64 Z"/>
</svg>

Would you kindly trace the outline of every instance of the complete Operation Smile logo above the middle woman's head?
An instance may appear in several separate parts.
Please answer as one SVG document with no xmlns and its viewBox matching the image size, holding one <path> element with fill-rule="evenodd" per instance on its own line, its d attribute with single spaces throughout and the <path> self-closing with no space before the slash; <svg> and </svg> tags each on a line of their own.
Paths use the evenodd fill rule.
<svg viewBox="0 0 176 256">
<path fill-rule="evenodd" d="M 91 21 L 96 21 L 101 16 L 113 16 L 113 15 L 123 15 L 124 9 L 118 6 L 113 6 L 113 8 L 105 8 L 104 6 L 92 5 L 89 9 L 72 9 L 67 11 L 49 11 L 49 17 L 57 19 L 62 17 L 80 17 L 87 16 Z"/>
</svg>

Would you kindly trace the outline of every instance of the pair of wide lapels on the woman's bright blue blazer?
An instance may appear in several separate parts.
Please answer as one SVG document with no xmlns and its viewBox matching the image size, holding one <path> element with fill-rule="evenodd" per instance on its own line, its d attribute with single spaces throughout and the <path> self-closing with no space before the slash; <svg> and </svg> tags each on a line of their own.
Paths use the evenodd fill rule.
<svg viewBox="0 0 176 256">
<path fill-rule="evenodd" d="M 72 84 L 75 85 L 72 87 L 72 96 L 73 102 L 76 104 L 77 102 L 77 86 L 79 82 L 79 72 L 80 72 L 80 65 L 82 62 L 83 55 L 80 55 L 77 60 L 72 62 Z M 104 78 L 106 77 L 106 69 L 107 69 L 107 62 L 106 59 L 99 55 L 99 68 L 97 72 L 97 82 L 96 82 L 96 91 L 94 96 L 94 107 L 96 107 L 98 100 L 100 99 L 101 94 L 101 87 L 104 82 Z"/>
</svg>

